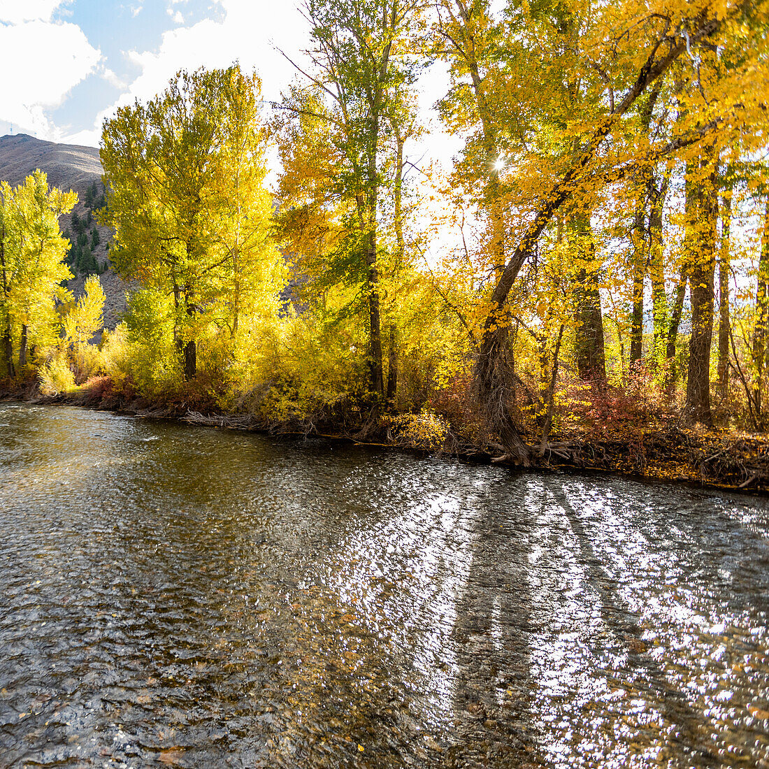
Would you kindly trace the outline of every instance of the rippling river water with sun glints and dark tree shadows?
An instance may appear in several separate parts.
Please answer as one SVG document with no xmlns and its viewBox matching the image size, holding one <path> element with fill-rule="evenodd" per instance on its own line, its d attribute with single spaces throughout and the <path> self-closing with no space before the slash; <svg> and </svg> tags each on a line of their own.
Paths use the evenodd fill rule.
<svg viewBox="0 0 769 769">
<path fill-rule="evenodd" d="M 769 767 L 765 501 L 0 404 L 2 767 Z"/>
</svg>

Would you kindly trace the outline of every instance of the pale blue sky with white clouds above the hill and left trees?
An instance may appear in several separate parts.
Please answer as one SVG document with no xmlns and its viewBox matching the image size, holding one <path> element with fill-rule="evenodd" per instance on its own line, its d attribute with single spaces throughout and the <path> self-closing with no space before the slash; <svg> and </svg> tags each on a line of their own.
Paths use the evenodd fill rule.
<svg viewBox="0 0 769 769">
<path fill-rule="evenodd" d="M 308 27 L 285 0 L 0 0 L 0 135 L 97 147 L 102 121 L 161 92 L 180 68 L 255 68 L 267 100 Z"/>
</svg>

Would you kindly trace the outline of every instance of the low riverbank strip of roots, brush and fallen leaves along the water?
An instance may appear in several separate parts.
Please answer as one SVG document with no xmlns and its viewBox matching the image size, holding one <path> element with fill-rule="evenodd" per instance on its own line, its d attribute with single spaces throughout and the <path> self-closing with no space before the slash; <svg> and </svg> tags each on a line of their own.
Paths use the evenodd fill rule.
<svg viewBox="0 0 769 769">
<path fill-rule="evenodd" d="M 423 453 L 448 454 L 482 464 L 512 466 L 501 447 L 488 441 L 470 441 L 449 430 L 445 433 L 420 424 L 418 415 L 382 418 L 374 428 L 351 418 L 334 424 L 266 423 L 253 414 L 221 414 L 195 401 L 146 401 L 131 391 L 115 392 L 107 378 L 98 378 L 75 391 L 43 395 L 34 381 L 22 387 L 0 389 L 0 400 L 32 404 L 72 404 L 83 408 L 119 411 L 142 418 L 179 419 L 188 424 L 272 435 L 317 435 L 338 441 L 374 444 Z M 401 427 L 410 418 L 408 429 Z M 424 428 L 424 429 L 421 429 Z M 561 471 L 599 471 L 664 481 L 682 481 L 706 488 L 751 494 L 769 492 L 769 435 L 722 428 L 688 428 L 676 421 L 651 425 L 625 425 L 610 430 L 553 434 L 540 457 L 538 442 L 529 436 L 532 465 Z"/>
</svg>

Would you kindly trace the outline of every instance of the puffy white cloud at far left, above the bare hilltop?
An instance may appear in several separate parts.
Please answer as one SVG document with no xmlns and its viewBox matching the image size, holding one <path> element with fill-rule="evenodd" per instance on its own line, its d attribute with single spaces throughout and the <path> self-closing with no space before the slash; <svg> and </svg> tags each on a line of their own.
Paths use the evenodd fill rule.
<svg viewBox="0 0 769 769">
<path fill-rule="evenodd" d="M 44 4 L 38 0 L 29 5 L 38 6 L 35 13 L 48 13 L 50 18 L 60 3 Z M 5 5 L 0 15 L 10 16 Z M 0 89 L 0 119 L 12 122 L 19 130 L 57 140 L 61 131 L 52 125 L 46 111 L 61 105 L 68 92 L 95 70 L 101 53 L 90 45 L 77 25 L 55 24 L 44 18 L 0 25 L 0 51 L 6 62 L 24 62 L 15 68 L 12 76 L 4 78 Z M 30 52 L 45 52 L 45 55 L 35 56 Z"/>
</svg>

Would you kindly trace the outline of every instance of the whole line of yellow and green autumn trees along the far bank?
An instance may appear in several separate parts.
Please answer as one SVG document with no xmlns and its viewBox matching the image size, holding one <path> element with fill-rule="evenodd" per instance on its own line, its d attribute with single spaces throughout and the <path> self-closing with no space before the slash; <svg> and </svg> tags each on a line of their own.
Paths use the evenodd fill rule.
<svg viewBox="0 0 769 769">
<path fill-rule="evenodd" d="M 98 354 L 69 342 L 75 379 L 518 464 L 554 435 L 766 428 L 769 3 L 303 10 L 281 102 L 235 64 L 105 120 L 97 218 L 132 288 Z M 441 130 L 463 144 L 446 171 L 420 163 L 431 65 L 448 72 Z M 65 211 L 48 194 L 41 222 Z M 14 205 L 11 379 L 50 371 L 72 338 L 52 315 L 55 238 L 35 268 L 45 301 L 9 282 L 6 261 L 33 258 Z M 19 352 L 32 336 L 38 369 Z"/>
</svg>

